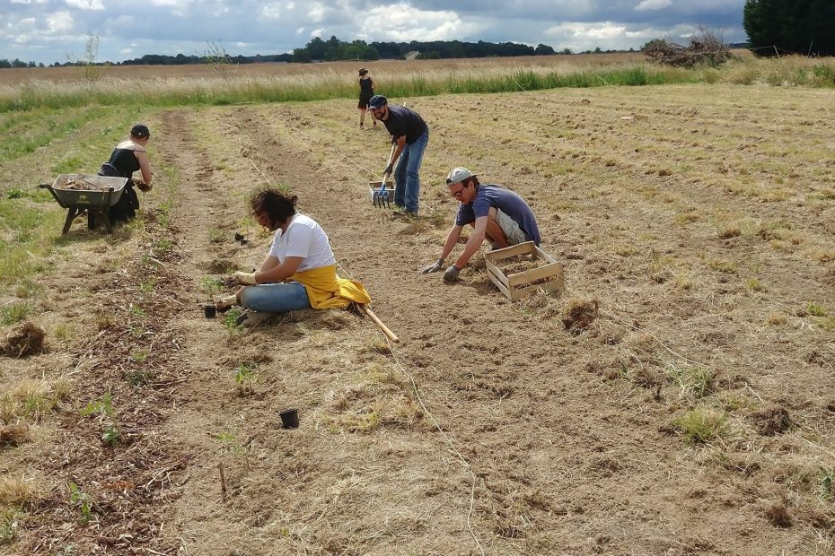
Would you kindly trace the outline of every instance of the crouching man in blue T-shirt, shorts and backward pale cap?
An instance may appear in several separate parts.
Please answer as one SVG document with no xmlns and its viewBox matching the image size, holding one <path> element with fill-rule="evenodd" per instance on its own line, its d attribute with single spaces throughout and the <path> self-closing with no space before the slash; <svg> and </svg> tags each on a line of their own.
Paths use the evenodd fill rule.
<svg viewBox="0 0 835 556">
<path fill-rule="evenodd" d="M 444 282 L 455 282 L 461 269 L 470 261 L 487 239 L 494 249 L 533 241 L 540 245 L 540 230 L 536 225 L 531 207 L 513 191 L 493 184 L 481 184 L 469 169 L 454 168 L 446 177 L 458 202 L 455 225 L 449 231 L 441 249 L 441 256 L 432 265 L 426 266 L 420 274 L 436 273 L 444 268 L 444 259 L 453 251 L 461 237 L 461 230 L 470 224 L 473 232 L 463 253 L 444 273 Z"/>
</svg>

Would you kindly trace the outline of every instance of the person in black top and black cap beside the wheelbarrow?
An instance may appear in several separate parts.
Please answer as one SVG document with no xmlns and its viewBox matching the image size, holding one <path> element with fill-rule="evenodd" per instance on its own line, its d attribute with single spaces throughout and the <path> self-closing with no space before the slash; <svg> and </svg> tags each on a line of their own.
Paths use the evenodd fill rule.
<svg viewBox="0 0 835 556">
<path fill-rule="evenodd" d="M 134 186 L 141 191 L 151 190 L 151 180 L 154 175 L 151 173 L 150 161 L 148 161 L 148 141 L 151 140 L 151 131 L 145 124 L 136 124 L 130 128 L 130 136 L 122 141 L 113 152 L 110 153 L 110 160 L 101 165 L 100 176 L 114 178 L 127 178 L 119 202 L 110 207 L 110 222 L 125 222 L 136 216 L 136 209 L 139 208 L 139 197 L 136 196 Z M 139 170 L 142 174 L 141 181 L 135 181 L 133 174 Z M 87 216 L 87 227 L 95 228 L 95 219 L 92 214 Z"/>
</svg>

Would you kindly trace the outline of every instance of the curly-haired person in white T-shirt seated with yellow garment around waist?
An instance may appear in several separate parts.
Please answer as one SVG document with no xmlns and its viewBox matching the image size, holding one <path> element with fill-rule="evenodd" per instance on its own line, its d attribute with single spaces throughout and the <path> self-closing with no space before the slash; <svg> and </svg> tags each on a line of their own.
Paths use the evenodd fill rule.
<svg viewBox="0 0 835 556">
<path fill-rule="evenodd" d="M 303 308 L 345 308 L 351 301 L 370 301 L 362 284 L 337 276 L 327 234 L 311 217 L 296 213 L 296 201 L 295 195 L 276 189 L 251 199 L 252 215 L 276 235 L 257 271 L 234 274 L 245 286 L 236 301 L 250 309 L 239 325 L 255 326 L 265 317 Z"/>
</svg>

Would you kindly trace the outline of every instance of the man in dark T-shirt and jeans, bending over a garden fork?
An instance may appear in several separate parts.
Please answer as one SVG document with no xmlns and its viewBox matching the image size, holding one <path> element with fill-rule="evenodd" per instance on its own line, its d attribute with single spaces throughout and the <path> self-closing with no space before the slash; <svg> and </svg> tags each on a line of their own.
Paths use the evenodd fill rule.
<svg viewBox="0 0 835 556">
<path fill-rule="evenodd" d="M 429 127 L 420 115 L 403 106 L 389 106 L 389 101 L 382 95 L 374 95 L 368 100 L 368 109 L 374 118 L 391 134 L 391 143 L 397 145 L 391 163 L 385 169 L 385 175 L 391 176 L 394 163 L 394 204 L 403 207 L 403 213 L 409 216 L 418 214 L 418 195 L 420 195 L 420 163 L 429 143 Z"/>
</svg>

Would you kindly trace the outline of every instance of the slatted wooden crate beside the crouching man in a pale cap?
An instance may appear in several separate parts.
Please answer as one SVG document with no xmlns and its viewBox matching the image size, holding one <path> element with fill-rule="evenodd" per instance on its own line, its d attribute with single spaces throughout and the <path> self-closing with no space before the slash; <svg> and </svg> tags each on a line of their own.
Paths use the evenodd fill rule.
<svg viewBox="0 0 835 556">
<path fill-rule="evenodd" d="M 532 259 L 541 259 L 545 265 L 505 276 L 497 263 L 518 256 L 530 255 Z M 526 241 L 509 248 L 496 249 L 484 256 L 490 281 L 511 301 L 521 300 L 538 289 L 558 291 L 565 284 L 562 265 L 552 256 L 536 247 L 532 241 Z"/>
</svg>

